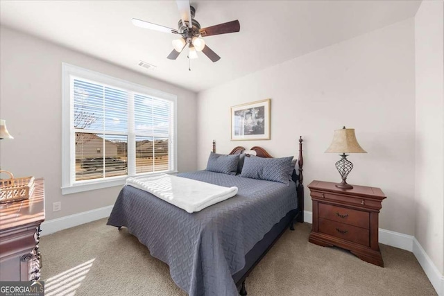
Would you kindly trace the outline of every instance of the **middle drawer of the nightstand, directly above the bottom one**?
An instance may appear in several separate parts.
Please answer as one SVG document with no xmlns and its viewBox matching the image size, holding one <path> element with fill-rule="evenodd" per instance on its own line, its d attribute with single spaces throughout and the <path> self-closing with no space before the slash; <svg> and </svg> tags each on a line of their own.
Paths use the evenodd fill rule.
<svg viewBox="0 0 444 296">
<path fill-rule="evenodd" d="M 361 228 L 370 228 L 370 214 L 366 211 L 357 211 L 344 207 L 336 207 L 331 204 L 319 203 L 319 218 L 334 220 Z"/>
</svg>

